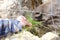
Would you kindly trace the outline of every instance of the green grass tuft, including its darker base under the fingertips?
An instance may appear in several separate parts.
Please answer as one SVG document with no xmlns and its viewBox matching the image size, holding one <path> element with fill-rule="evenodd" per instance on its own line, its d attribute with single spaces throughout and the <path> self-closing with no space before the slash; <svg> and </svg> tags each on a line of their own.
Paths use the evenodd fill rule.
<svg viewBox="0 0 60 40">
<path fill-rule="evenodd" d="M 31 14 L 26 15 L 27 20 L 32 24 L 32 28 L 25 27 L 27 31 L 35 31 L 37 25 L 42 25 L 41 22 L 32 19 Z"/>
</svg>

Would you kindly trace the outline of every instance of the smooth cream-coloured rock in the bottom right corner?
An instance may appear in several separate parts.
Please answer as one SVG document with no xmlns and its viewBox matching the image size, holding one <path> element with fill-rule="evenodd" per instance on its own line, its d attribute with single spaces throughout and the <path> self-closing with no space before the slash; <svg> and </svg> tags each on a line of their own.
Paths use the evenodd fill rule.
<svg viewBox="0 0 60 40">
<path fill-rule="evenodd" d="M 42 40 L 59 40 L 59 36 L 52 32 L 48 32 L 41 37 Z"/>
</svg>

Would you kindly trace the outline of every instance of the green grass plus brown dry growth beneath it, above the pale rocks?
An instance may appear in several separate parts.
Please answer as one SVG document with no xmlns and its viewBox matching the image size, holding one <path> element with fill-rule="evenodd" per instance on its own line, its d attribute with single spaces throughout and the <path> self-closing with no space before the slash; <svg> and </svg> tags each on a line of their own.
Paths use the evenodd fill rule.
<svg viewBox="0 0 60 40">
<path fill-rule="evenodd" d="M 25 27 L 24 29 L 27 31 L 30 31 L 32 34 L 41 37 L 43 34 L 46 32 L 50 31 L 44 27 L 42 27 L 42 22 L 38 22 L 32 19 L 31 14 L 26 14 L 26 18 L 28 19 L 29 22 L 32 23 L 32 27 Z"/>
</svg>

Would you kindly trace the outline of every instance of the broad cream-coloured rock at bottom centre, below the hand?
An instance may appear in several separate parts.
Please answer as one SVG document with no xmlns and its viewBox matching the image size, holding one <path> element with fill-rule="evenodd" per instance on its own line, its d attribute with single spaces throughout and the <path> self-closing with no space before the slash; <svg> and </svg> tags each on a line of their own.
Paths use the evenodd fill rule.
<svg viewBox="0 0 60 40">
<path fill-rule="evenodd" d="M 40 40 L 38 36 L 34 36 L 28 31 L 23 31 L 19 34 L 14 34 L 10 38 L 6 38 L 5 40 Z"/>
</svg>

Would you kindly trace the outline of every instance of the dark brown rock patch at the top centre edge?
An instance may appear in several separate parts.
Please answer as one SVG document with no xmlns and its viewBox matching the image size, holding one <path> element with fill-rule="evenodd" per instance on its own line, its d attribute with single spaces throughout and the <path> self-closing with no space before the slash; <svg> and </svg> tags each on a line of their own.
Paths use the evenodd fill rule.
<svg viewBox="0 0 60 40">
<path fill-rule="evenodd" d="M 23 0 L 22 1 L 22 6 L 27 6 L 29 10 L 35 9 L 40 4 L 42 4 L 42 0 Z"/>
</svg>

